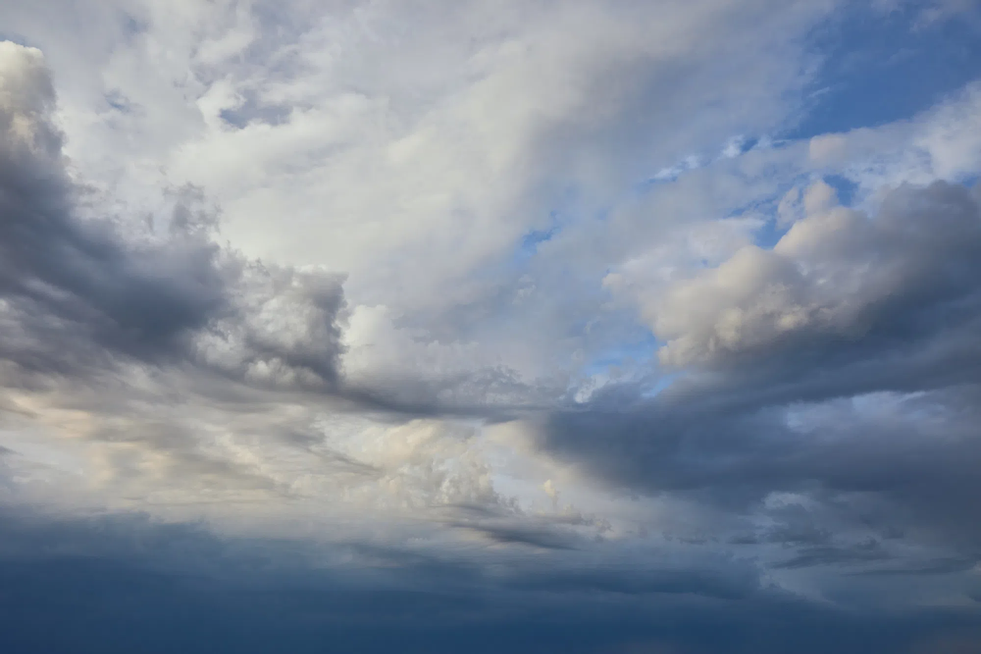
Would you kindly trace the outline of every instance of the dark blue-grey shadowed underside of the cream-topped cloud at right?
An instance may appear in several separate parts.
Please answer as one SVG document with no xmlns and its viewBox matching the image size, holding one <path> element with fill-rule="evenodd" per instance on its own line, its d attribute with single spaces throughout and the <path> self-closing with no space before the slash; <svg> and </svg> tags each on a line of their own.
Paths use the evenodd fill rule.
<svg viewBox="0 0 981 654">
<path fill-rule="evenodd" d="M 963 561 L 976 561 L 979 197 L 977 188 L 946 183 L 892 191 L 870 219 L 875 240 L 827 255 L 858 257 L 903 281 L 864 307 L 860 330 L 805 331 L 710 360 L 650 400 L 638 399 L 642 389 L 611 386 L 587 406 L 554 412 L 542 446 L 614 486 L 737 512 L 758 508 L 773 491 L 803 492 L 835 503 L 846 521 L 878 520 L 880 540 L 929 533 L 958 548 Z M 896 419 L 875 422 L 852 398 L 877 393 L 913 395 Z M 835 417 L 792 428 L 788 411 L 808 407 Z M 866 503 L 874 511 L 851 506 L 855 496 L 874 498 Z M 784 564 L 792 568 L 889 558 L 874 546 L 841 549 L 774 533 L 737 540 L 805 548 Z"/>
</svg>

